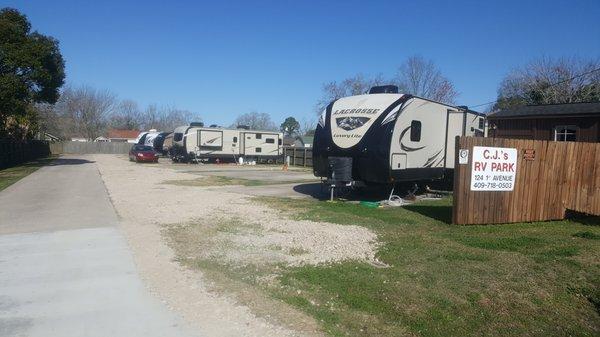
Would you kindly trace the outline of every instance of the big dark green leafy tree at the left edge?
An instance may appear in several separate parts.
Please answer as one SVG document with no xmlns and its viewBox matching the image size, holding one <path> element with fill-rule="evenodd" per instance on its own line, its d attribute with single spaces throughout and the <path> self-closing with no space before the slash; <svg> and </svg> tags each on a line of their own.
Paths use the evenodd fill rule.
<svg viewBox="0 0 600 337">
<path fill-rule="evenodd" d="M 31 31 L 16 9 L 0 10 L 0 137 L 31 136 L 36 103 L 55 103 L 64 60 L 54 38 Z"/>
</svg>

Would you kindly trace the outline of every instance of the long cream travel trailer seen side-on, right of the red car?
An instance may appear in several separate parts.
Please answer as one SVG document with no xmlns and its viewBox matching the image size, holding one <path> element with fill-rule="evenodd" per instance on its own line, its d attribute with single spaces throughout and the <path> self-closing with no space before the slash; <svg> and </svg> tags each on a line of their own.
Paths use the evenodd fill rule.
<svg viewBox="0 0 600 337">
<path fill-rule="evenodd" d="M 173 161 L 238 161 L 276 159 L 281 155 L 283 134 L 273 131 L 204 127 L 200 123 L 180 126 L 173 132 Z"/>
</svg>

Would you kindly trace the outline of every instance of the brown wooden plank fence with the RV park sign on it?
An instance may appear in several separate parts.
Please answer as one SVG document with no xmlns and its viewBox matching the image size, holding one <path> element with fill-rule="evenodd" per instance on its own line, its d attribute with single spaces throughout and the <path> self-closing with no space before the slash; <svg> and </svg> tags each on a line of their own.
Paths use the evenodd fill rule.
<svg viewBox="0 0 600 337">
<path fill-rule="evenodd" d="M 460 137 L 456 144 L 455 224 L 558 220 L 566 210 L 600 215 L 600 143 Z"/>
</svg>

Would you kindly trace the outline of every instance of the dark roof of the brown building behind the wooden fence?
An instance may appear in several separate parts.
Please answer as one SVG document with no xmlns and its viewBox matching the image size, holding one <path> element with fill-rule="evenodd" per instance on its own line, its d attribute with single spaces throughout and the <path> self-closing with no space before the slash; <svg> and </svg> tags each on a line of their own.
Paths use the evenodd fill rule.
<svg viewBox="0 0 600 337">
<path fill-rule="evenodd" d="M 500 110 L 488 115 L 488 118 L 517 118 L 531 116 L 563 116 L 563 115 L 600 115 L 600 102 L 595 103 L 563 103 L 544 105 L 525 105 L 512 109 Z"/>
</svg>

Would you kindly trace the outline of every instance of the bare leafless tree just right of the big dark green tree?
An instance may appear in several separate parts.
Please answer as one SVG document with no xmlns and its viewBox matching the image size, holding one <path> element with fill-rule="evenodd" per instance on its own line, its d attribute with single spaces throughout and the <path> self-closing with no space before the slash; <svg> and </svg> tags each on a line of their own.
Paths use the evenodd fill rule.
<svg viewBox="0 0 600 337">
<path fill-rule="evenodd" d="M 56 109 L 58 113 L 72 121 L 71 135 L 94 140 L 102 135 L 113 112 L 115 95 L 107 90 L 96 90 L 89 86 L 66 88 Z"/>
</svg>

